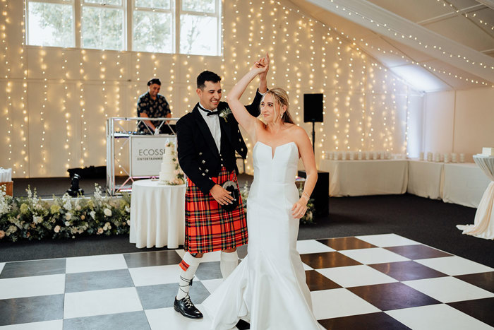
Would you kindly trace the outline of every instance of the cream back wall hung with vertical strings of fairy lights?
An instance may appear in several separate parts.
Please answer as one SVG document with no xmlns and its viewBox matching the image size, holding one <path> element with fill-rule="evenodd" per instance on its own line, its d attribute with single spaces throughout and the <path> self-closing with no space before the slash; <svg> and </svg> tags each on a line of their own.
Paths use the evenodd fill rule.
<svg viewBox="0 0 494 330">
<path fill-rule="evenodd" d="M 71 167 L 104 165 L 105 119 L 134 117 L 149 78 L 161 78 L 172 116 L 181 117 L 197 102 L 200 71 L 219 73 L 227 92 L 265 52 L 272 57 L 269 86 L 289 90 L 291 113 L 308 134 L 303 93 L 325 94 L 325 122 L 316 124 L 317 159 L 336 149 L 402 153 L 406 112 L 421 112 L 420 95 L 289 1 L 224 1 L 222 57 L 26 47 L 23 1 L 8 1 L 3 10 L 0 166 L 12 167 L 13 177 L 60 177 Z M 245 102 L 255 88 L 253 83 Z"/>
</svg>

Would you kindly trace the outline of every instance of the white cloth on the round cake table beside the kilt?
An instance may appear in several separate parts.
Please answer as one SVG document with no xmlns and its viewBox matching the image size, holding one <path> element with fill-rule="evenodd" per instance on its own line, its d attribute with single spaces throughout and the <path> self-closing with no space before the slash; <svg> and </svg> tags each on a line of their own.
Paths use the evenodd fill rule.
<svg viewBox="0 0 494 330">
<path fill-rule="evenodd" d="M 185 184 L 167 186 L 147 179 L 132 184 L 130 242 L 176 249 L 185 235 Z"/>
</svg>

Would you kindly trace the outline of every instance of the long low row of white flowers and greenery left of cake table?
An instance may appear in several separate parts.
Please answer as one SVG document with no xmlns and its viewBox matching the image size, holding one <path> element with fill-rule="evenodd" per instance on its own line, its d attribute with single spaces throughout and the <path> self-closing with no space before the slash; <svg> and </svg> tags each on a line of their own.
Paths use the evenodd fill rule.
<svg viewBox="0 0 494 330">
<path fill-rule="evenodd" d="M 28 188 L 28 197 L 6 196 L 0 191 L 0 240 L 76 238 L 83 235 L 128 234 L 131 198 L 110 199 L 96 184 L 90 199 L 64 194 L 52 203 Z"/>
</svg>

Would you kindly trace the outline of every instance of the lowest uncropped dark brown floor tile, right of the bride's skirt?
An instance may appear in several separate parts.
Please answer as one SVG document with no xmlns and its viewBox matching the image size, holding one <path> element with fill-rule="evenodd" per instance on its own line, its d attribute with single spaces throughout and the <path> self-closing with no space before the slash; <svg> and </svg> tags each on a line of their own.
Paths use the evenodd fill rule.
<svg viewBox="0 0 494 330">
<path fill-rule="evenodd" d="M 438 300 L 399 282 L 357 286 L 347 290 L 382 311 L 440 304 Z"/>
</svg>

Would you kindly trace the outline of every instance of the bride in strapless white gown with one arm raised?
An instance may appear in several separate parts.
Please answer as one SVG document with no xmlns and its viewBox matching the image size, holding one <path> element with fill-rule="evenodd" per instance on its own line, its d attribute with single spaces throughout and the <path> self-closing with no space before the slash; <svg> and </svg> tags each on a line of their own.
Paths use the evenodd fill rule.
<svg viewBox="0 0 494 330">
<path fill-rule="evenodd" d="M 254 180 L 247 203 L 248 255 L 203 302 L 215 330 L 232 329 L 239 319 L 253 330 L 321 329 L 296 251 L 299 219 L 318 176 L 311 141 L 292 121 L 281 88 L 268 90 L 260 103 L 263 121 L 239 100 L 268 65 L 266 55 L 228 95 L 231 112 L 255 143 Z M 300 198 L 294 183 L 299 157 L 307 172 Z"/>
</svg>

